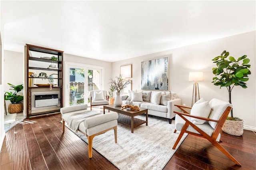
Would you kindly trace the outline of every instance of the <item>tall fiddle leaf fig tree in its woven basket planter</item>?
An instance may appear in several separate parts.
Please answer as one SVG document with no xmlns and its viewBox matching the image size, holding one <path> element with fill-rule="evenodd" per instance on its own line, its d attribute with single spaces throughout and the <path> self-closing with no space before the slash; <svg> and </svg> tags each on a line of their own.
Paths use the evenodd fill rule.
<svg viewBox="0 0 256 170">
<path fill-rule="evenodd" d="M 212 59 L 217 67 L 212 68 L 213 77 L 212 83 L 221 87 L 226 87 L 228 90 L 228 99 L 231 104 L 231 92 L 235 86 L 247 88 L 246 81 L 249 80 L 248 75 L 251 74 L 250 59 L 243 55 L 238 59 L 229 56 L 228 51 L 223 51 L 221 55 Z M 241 63 L 242 62 L 242 63 Z M 231 110 L 231 117 L 228 117 L 222 127 L 222 130 L 228 134 L 240 136 L 244 132 L 244 121 L 238 117 L 233 117 L 233 109 Z"/>
</svg>

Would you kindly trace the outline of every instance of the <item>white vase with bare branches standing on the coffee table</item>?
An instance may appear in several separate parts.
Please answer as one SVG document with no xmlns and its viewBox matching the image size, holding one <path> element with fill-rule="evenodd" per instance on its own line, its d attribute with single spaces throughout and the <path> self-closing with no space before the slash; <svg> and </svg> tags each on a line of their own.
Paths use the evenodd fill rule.
<svg viewBox="0 0 256 170">
<path fill-rule="evenodd" d="M 116 80 L 113 80 L 110 78 L 110 83 L 114 86 L 116 92 L 116 97 L 114 100 L 114 105 L 115 106 L 121 106 L 122 105 L 122 98 L 120 96 L 120 92 L 128 85 L 131 83 L 130 79 L 125 80 L 122 75 L 119 75 L 119 77 L 116 77 Z"/>
</svg>

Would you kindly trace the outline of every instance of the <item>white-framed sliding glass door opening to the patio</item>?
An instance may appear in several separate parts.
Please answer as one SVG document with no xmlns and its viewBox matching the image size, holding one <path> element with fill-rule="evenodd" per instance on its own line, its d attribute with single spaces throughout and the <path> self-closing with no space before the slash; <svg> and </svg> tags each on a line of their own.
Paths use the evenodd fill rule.
<svg viewBox="0 0 256 170">
<path fill-rule="evenodd" d="M 103 67 L 65 62 L 64 106 L 90 105 L 90 91 L 101 90 Z"/>
</svg>

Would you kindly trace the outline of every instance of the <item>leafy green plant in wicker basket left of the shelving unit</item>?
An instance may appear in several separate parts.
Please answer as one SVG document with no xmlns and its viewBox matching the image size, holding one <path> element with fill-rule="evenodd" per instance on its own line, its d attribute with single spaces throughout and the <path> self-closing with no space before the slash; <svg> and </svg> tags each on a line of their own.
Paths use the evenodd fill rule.
<svg viewBox="0 0 256 170">
<path fill-rule="evenodd" d="M 17 93 L 20 92 L 23 89 L 23 85 L 12 85 L 10 83 L 7 83 L 12 87 L 12 91 L 8 92 L 6 91 L 4 93 L 4 100 L 10 100 L 10 104 L 8 105 L 8 112 L 9 113 L 20 113 L 23 111 L 23 99 L 24 97 L 22 95 L 18 95 Z"/>
</svg>

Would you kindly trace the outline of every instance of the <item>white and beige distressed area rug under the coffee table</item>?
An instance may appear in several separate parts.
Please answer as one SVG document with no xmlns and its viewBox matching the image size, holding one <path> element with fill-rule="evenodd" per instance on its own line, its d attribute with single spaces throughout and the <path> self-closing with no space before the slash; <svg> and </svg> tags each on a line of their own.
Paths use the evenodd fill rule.
<svg viewBox="0 0 256 170">
<path fill-rule="evenodd" d="M 146 120 L 146 115 L 136 118 Z M 131 133 L 130 127 L 118 123 L 117 143 L 114 130 L 110 130 L 95 136 L 92 147 L 120 170 L 162 170 L 176 151 L 172 146 L 179 131 L 174 133 L 174 128 L 174 124 L 169 124 L 167 119 L 151 116 L 148 117 L 148 126 L 140 125 L 134 128 L 134 133 Z M 77 135 L 88 143 L 82 133 Z"/>
</svg>

